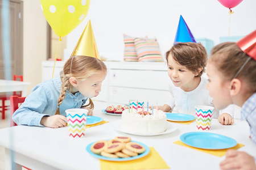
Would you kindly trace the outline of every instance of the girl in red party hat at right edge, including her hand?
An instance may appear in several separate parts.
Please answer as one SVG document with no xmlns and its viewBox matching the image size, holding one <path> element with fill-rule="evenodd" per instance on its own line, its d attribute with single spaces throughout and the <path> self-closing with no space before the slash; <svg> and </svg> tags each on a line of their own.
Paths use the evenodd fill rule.
<svg viewBox="0 0 256 170">
<path fill-rule="evenodd" d="M 256 145 L 256 30 L 242 40 L 214 46 L 208 61 L 207 90 L 217 109 L 229 104 L 241 108 L 241 119 L 250 125 Z M 255 158 L 246 152 L 229 150 L 221 169 L 256 169 Z"/>
</svg>

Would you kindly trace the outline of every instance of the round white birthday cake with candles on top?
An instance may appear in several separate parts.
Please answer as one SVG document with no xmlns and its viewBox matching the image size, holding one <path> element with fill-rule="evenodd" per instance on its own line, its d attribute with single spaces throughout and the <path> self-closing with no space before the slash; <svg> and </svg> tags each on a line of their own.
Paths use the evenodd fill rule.
<svg viewBox="0 0 256 170">
<path fill-rule="evenodd" d="M 122 113 L 121 129 L 127 133 L 156 134 L 167 129 L 166 113 L 156 109 L 125 109 Z"/>
</svg>

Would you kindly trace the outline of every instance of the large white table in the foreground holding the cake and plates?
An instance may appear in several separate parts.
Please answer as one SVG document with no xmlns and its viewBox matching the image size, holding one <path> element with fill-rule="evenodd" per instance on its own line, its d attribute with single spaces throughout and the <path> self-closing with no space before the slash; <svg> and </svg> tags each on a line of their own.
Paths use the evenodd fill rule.
<svg viewBox="0 0 256 170">
<path fill-rule="evenodd" d="M 103 117 L 110 122 L 86 129 L 85 137 L 80 139 L 69 138 L 67 127 L 51 129 L 15 126 L 1 129 L 0 145 L 6 148 L 6 169 L 11 169 L 11 150 L 14 151 L 16 169 L 21 169 L 19 164 L 32 169 L 100 169 L 100 160 L 90 155 L 85 150 L 86 146 L 120 135 L 129 136 L 134 141 L 154 147 L 172 170 L 199 169 L 198 160 L 202 160 L 201 166 L 205 165 L 207 169 L 217 169 L 223 159 L 172 143 L 178 141 L 183 133 L 197 131 L 195 121 L 190 125 L 174 124 L 177 130 L 170 134 L 141 137 L 114 130 L 114 121 L 120 120 L 120 116 L 111 116 L 100 111 L 94 112 L 94 116 Z M 245 145 L 239 149 L 240 151 L 256 156 L 256 145 L 249 138 L 249 125 L 246 121 L 235 120 L 234 125 L 223 126 L 214 119 L 209 132 L 236 139 L 238 143 Z"/>
</svg>

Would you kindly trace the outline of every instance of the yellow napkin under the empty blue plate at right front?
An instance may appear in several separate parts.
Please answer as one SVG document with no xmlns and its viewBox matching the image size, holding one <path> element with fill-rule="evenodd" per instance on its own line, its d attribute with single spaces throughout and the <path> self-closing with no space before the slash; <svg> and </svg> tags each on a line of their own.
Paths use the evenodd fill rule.
<svg viewBox="0 0 256 170">
<path fill-rule="evenodd" d="M 227 149 L 224 149 L 224 150 L 204 150 L 204 149 L 201 149 L 201 148 L 196 148 L 196 147 L 185 145 L 181 141 L 175 141 L 174 143 L 177 144 L 177 145 L 193 148 L 194 150 L 198 150 L 198 151 L 201 151 L 201 152 L 205 152 L 207 154 L 212 154 L 212 155 L 220 156 L 220 157 L 224 156 L 226 154 L 226 151 L 228 151 L 229 149 L 238 150 L 238 148 L 245 146 L 245 145 L 242 145 L 241 143 L 237 143 L 236 146 L 234 146 L 232 148 L 227 148 Z"/>
</svg>

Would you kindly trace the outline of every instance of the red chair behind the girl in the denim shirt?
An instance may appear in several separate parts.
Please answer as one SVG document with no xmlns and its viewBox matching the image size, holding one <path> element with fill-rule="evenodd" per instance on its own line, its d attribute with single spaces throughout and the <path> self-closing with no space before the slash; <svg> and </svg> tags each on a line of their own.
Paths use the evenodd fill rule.
<svg viewBox="0 0 256 170">
<path fill-rule="evenodd" d="M 10 126 L 17 126 L 17 124 L 15 124 L 15 122 L 13 121 L 13 113 L 16 111 L 16 109 L 19 108 L 19 104 L 23 103 L 25 101 L 26 97 L 18 97 L 18 96 L 11 96 L 10 97 Z M 23 167 L 23 166 L 22 166 Z M 29 169 L 27 167 L 23 167 L 26 168 L 28 170 L 32 170 Z"/>
</svg>

